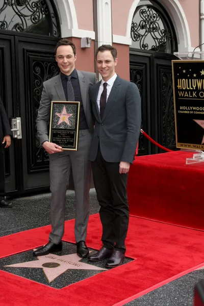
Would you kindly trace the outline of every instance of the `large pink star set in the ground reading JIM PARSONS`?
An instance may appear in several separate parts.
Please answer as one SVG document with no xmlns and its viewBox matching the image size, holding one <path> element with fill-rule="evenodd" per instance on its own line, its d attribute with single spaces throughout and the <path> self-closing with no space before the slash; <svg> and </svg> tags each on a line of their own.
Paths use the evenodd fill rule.
<svg viewBox="0 0 204 306">
<path fill-rule="evenodd" d="M 42 268 L 48 283 L 54 281 L 59 275 L 67 270 L 104 270 L 107 269 L 96 267 L 94 265 L 89 265 L 80 262 L 82 258 L 78 256 L 77 253 L 58 256 L 56 254 L 49 253 L 45 256 L 37 257 L 38 260 L 29 261 L 25 263 L 18 263 L 13 265 L 8 265 L 5 267 L 18 267 L 18 268 Z"/>
</svg>

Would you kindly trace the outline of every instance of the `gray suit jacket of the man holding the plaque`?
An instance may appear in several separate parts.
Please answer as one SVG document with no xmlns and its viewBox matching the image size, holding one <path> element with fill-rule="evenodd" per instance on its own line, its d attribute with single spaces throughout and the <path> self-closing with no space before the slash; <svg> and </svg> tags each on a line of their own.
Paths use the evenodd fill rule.
<svg viewBox="0 0 204 306">
<path fill-rule="evenodd" d="M 93 72 L 86 72 L 77 70 L 80 90 L 82 95 L 82 104 L 90 130 L 93 130 L 93 116 L 89 98 L 89 87 L 97 82 L 96 74 Z M 38 116 L 36 119 L 37 136 L 40 144 L 48 140 L 47 125 L 50 121 L 51 101 L 65 101 L 64 90 L 60 74 L 49 79 L 43 83 L 42 96 L 40 107 L 38 109 Z"/>
</svg>

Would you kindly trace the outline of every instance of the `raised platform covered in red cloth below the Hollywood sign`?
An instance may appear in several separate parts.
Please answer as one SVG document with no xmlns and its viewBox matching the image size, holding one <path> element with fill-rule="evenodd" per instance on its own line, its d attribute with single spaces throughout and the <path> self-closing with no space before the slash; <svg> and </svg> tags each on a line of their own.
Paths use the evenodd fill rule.
<svg viewBox="0 0 204 306">
<path fill-rule="evenodd" d="M 193 152 L 136 157 L 127 184 L 134 216 L 204 230 L 204 163 L 186 165 Z"/>
</svg>

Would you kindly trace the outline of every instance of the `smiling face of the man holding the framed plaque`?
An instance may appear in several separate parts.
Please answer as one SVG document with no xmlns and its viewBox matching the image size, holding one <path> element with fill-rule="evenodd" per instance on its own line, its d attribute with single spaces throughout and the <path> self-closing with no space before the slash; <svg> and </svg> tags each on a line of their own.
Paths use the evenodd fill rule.
<svg viewBox="0 0 204 306">
<path fill-rule="evenodd" d="M 74 56 L 73 49 L 70 45 L 62 45 L 57 48 L 55 59 L 58 63 L 60 71 L 66 75 L 69 75 L 75 68 L 75 60 L 77 59 L 77 55 Z"/>
</svg>

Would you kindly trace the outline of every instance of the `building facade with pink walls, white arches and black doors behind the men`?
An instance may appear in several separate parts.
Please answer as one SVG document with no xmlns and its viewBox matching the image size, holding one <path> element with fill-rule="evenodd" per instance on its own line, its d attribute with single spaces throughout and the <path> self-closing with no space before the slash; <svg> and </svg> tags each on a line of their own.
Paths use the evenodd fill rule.
<svg viewBox="0 0 204 306">
<path fill-rule="evenodd" d="M 175 149 L 171 60 L 204 43 L 203 22 L 204 0 L 1 0 L 0 94 L 9 119 L 21 118 L 22 127 L 6 154 L 7 194 L 49 187 L 35 119 L 42 84 L 58 73 L 61 37 L 74 42 L 76 68 L 85 71 L 95 71 L 98 46 L 115 46 L 116 72 L 140 90 L 142 129 Z M 141 136 L 139 155 L 159 152 Z"/>
</svg>

